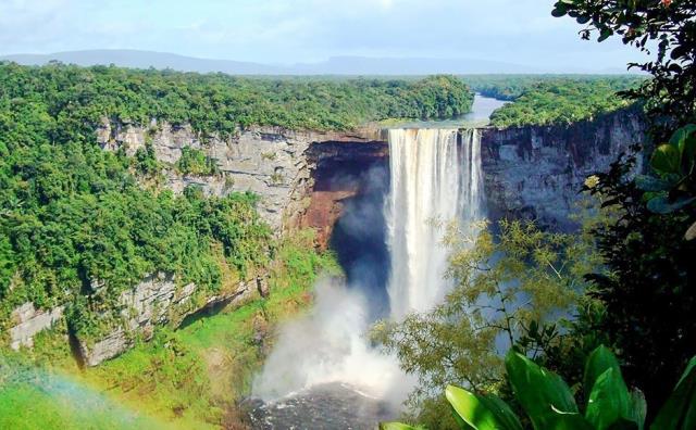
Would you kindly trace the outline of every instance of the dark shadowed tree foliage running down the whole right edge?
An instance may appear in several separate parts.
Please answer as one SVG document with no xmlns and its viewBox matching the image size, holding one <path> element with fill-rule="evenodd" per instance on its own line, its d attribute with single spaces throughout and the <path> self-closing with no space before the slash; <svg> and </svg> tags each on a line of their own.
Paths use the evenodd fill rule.
<svg viewBox="0 0 696 430">
<path fill-rule="evenodd" d="M 651 78 L 626 94 L 647 106 L 657 146 L 647 154 L 652 170 L 634 178 L 639 161 L 629 155 L 587 187 L 606 195 L 605 205 L 620 216 L 596 231 L 611 275 L 588 276 L 606 312 L 581 314 L 589 324 L 576 327 L 574 336 L 605 334 L 629 382 L 655 404 L 667 399 L 679 369 L 696 354 L 696 176 L 689 125 L 696 122 L 695 12 L 693 0 L 559 0 L 554 11 L 583 25 L 584 39 L 619 36 L 650 55 L 633 66 Z"/>
</svg>

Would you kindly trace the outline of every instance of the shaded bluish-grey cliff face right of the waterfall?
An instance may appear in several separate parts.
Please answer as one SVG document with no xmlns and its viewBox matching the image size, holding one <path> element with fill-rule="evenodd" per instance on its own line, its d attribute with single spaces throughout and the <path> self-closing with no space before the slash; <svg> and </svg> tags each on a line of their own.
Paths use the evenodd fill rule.
<svg viewBox="0 0 696 430">
<path fill-rule="evenodd" d="M 573 228 L 569 216 L 585 178 L 607 170 L 632 144 L 644 143 L 645 130 L 643 116 L 635 112 L 568 127 L 484 129 L 481 147 L 489 216 Z"/>
</svg>

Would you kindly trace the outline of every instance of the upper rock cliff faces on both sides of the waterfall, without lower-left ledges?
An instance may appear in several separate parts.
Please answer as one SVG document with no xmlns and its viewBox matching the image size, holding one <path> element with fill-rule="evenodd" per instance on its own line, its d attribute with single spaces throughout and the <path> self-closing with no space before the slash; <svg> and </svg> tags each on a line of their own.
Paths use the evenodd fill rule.
<svg viewBox="0 0 696 430">
<path fill-rule="evenodd" d="M 569 215 L 582 182 L 606 170 L 631 144 L 642 143 L 645 128 L 638 113 L 623 111 L 571 126 L 482 129 L 488 214 L 572 228 Z M 167 169 L 167 187 L 182 192 L 197 184 L 215 195 L 252 191 L 275 231 L 311 227 L 319 231 L 320 244 L 326 243 L 340 216 L 340 202 L 359 192 L 351 175 L 374 163 L 388 163 L 386 132 L 376 128 L 341 134 L 261 127 L 203 141 L 190 127 L 104 123 L 98 135 L 104 149 L 123 148 L 128 154 L 150 141 L 157 157 L 170 164 L 181 157 L 184 147 L 203 150 L 221 174 L 201 177 Z"/>
</svg>

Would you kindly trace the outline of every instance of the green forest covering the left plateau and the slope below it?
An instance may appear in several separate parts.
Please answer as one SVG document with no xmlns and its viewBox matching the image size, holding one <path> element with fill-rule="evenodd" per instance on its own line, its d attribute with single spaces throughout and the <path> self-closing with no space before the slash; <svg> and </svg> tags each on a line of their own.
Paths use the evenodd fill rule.
<svg viewBox="0 0 696 430">
<path fill-rule="evenodd" d="M 252 124 L 340 129 L 389 116 L 452 116 L 471 101 L 469 88 L 447 76 L 304 81 L 0 64 L 0 326 L 22 303 L 69 303 L 72 329 L 86 334 L 147 274 L 173 273 L 179 284 L 214 292 L 226 269 L 244 278 L 268 262 L 270 230 L 253 195 L 144 189 L 136 175 L 161 169 L 151 147 L 133 159 L 102 151 L 95 130 L 103 118 L 158 118 L 224 136 Z M 175 167 L 217 172 L 190 149 Z"/>
</svg>

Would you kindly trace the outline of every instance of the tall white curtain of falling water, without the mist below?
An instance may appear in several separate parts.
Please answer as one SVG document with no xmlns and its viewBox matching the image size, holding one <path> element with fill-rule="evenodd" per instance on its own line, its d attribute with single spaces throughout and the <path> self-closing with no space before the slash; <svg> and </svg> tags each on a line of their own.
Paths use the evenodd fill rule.
<svg viewBox="0 0 696 430">
<path fill-rule="evenodd" d="M 461 140 L 459 139 L 461 136 Z M 444 224 L 483 216 L 478 130 L 389 130 L 391 192 L 385 205 L 391 317 L 424 312 L 449 289 Z"/>
</svg>

